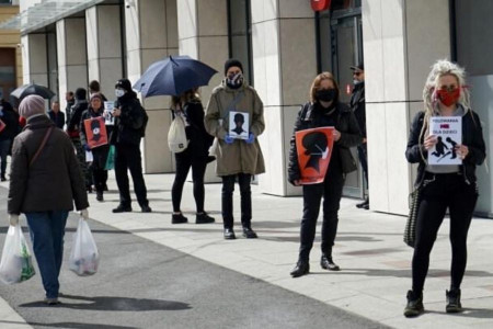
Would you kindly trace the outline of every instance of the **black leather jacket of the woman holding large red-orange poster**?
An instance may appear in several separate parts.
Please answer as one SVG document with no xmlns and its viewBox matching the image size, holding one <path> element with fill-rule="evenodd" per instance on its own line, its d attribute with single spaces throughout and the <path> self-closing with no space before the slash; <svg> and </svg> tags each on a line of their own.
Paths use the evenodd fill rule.
<svg viewBox="0 0 493 329">
<path fill-rule="evenodd" d="M 343 173 L 349 173 L 357 169 L 349 148 L 362 144 L 363 137 L 353 111 L 343 103 L 337 102 L 335 106 L 337 111 L 335 128 L 341 133 L 341 138 L 334 143 L 334 151 L 339 150 Z M 324 114 L 321 113 L 321 111 L 317 111 L 317 106 L 310 102 L 302 105 L 298 113 L 298 118 L 295 123 L 295 132 L 293 133 L 290 140 L 291 148 L 289 151 L 288 166 L 288 181 L 290 183 L 300 179 L 295 134 L 298 131 L 326 126 L 326 124 L 324 124 L 323 115 Z"/>
</svg>

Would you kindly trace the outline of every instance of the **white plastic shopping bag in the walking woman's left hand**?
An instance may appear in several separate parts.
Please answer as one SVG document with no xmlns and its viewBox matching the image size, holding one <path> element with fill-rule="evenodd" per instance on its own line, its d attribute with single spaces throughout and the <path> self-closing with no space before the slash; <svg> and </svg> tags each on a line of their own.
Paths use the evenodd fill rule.
<svg viewBox="0 0 493 329">
<path fill-rule="evenodd" d="M 36 272 L 21 225 L 9 226 L 0 261 L 0 280 L 5 284 L 30 280 Z"/>
</svg>

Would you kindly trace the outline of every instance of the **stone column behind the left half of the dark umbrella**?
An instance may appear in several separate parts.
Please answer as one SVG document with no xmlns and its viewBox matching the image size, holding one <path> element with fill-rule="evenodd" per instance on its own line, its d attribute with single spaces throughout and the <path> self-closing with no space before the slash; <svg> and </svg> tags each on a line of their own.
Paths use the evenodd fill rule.
<svg viewBox="0 0 493 329">
<path fill-rule="evenodd" d="M 152 63 L 176 55 L 176 0 L 135 0 L 125 8 L 125 36 L 128 79 L 135 83 Z M 168 149 L 171 124 L 170 98 L 144 100 L 149 115 L 142 143 L 146 173 L 173 171 L 173 157 Z"/>
</svg>

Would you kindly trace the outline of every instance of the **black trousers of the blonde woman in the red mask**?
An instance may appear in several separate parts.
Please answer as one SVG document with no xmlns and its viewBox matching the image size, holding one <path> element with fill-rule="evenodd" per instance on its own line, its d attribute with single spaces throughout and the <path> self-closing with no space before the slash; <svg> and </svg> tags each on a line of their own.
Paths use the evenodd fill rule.
<svg viewBox="0 0 493 329">
<path fill-rule="evenodd" d="M 478 200 L 474 183 L 468 184 L 457 173 L 426 173 L 417 212 L 413 254 L 413 291 L 420 294 L 429 266 L 429 253 L 447 207 L 450 214 L 451 288 L 459 288 L 467 263 L 467 237 Z"/>
</svg>

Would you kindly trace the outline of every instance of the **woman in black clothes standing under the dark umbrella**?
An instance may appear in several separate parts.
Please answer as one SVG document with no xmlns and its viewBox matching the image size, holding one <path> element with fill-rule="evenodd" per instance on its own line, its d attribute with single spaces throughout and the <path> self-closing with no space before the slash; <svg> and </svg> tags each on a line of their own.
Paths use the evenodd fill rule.
<svg viewBox="0 0 493 329">
<path fill-rule="evenodd" d="M 185 184 L 188 171 L 192 168 L 192 180 L 194 183 L 194 197 L 197 214 L 196 224 L 214 223 L 215 219 L 204 211 L 204 175 L 208 162 L 208 150 L 213 145 L 214 137 L 207 134 L 204 126 L 204 107 L 198 98 L 197 90 L 185 91 L 180 97 L 171 100 L 173 117 L 183 116 L 186 123 L 185 133 L 188 139 L 187 148 L 179 154 L 174 154 L 176 160 L 176 175 L 174 178 L 171 196 L 173 201 L 172 224 L 186 223 L 188 219 L 181 211 L 183 185 Z"/>
</svg>

